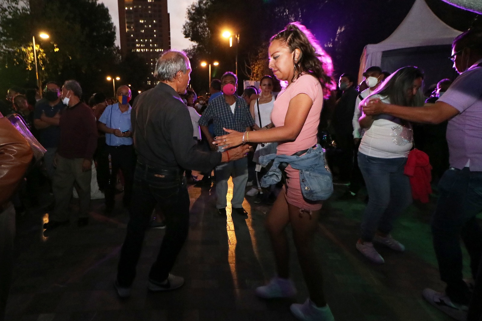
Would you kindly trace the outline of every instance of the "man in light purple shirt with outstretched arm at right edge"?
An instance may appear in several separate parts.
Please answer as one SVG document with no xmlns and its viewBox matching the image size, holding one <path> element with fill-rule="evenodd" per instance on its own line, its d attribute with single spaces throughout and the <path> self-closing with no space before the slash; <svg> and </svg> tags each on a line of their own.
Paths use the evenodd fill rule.
<svg viewBox="0 0 482 321">
<path fill-rule="evenodd" d="M 482 31 L 472 29 L 455 38 L 450 59 L 460 76 L 435 104 L 415 108 L 371 101 L 363 112 L 432 124 L 449 120 L 450 168 L 440 180 L 440 197 L 431 222 L 440 276 L 447 287 L 443 293 L 425 289 L 423 295 L 455 319 L 465 320 L 471 294 L 462 280 L 459 239 L 469 252 L 474 280 L 482 254 L 482 230 L 475 218 L 482 210 Z"/>
</svg>

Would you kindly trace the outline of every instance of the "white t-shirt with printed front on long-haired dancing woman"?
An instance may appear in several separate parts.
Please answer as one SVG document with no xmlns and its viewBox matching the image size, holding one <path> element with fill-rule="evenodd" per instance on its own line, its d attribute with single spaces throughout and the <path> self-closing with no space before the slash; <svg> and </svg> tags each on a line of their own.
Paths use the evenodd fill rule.
<svg viewBox="0 0 482 321">
<path fill-rule="evenodd" d="M 373 95 L 389 104 L 387 97 Z M 365 129 L 360 148 L 362 154 L 378 158 L 408 157 L 413 146 L 412 125 L 400 118 L 387 114 L 374 116 L 370 128 Z"/>
</svg>

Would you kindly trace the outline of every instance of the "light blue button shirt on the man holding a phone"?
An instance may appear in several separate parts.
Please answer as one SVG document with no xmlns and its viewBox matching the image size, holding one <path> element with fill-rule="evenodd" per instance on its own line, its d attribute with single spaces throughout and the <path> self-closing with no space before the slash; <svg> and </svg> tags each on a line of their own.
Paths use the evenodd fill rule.
<svg viewBox="0 0 482 321">
<path fill-rule="evenodd" d="M 109 105 L 100 116 L 99 121 L 106 124 L 107 127 L 119 129 L 121 132 L 126 130 L 132 132 L 131 109 L 132 107 L 129 106 L 129 109 L 122 113 L 119 109 L 119 103 Z M 117 137 L 114 134 L 106 134 L 106 144 L 109 146 L 132 145 L 133 139 L 132 137 Z"/>
</svg>

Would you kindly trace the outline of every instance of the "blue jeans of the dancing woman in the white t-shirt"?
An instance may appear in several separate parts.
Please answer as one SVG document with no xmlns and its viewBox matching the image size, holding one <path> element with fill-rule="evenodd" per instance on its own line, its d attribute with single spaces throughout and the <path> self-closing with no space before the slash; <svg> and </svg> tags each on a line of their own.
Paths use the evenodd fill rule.
<svg viewBox="0 0 482 321">
<path fill-rule="evenodd" d="M 371 242 L 376 230 L 388 234 L 395 219 L 412 203 L 407 159 L 378 158 L 358 153 L 358 166 L 368 190 L 369 201 L 362 218 L 362 240 Z"/>
</svg>

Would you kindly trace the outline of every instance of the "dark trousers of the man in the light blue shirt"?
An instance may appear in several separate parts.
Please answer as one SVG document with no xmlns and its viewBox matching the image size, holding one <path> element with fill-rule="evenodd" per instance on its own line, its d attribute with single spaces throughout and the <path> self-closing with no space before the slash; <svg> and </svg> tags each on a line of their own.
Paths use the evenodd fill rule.
<svg viewBox="0 0 482 321">
<path fill-rule="evenodd" d="M 116 194 L 117 172 L 119 169 L 124 176 L 124 204 L 129 204 L 132 195 L 132 183 L 134 179 L 135 153 L 134 145 L 106 146 L 105 158 L 107 158 L 106 205 L 114 206 Z M 109 160 L 110 155 L 110 160 Z"/>
</svg>

